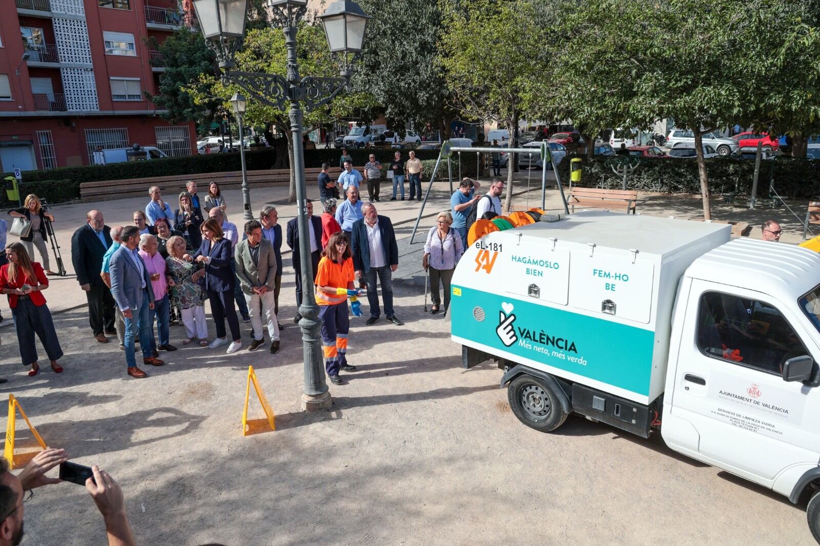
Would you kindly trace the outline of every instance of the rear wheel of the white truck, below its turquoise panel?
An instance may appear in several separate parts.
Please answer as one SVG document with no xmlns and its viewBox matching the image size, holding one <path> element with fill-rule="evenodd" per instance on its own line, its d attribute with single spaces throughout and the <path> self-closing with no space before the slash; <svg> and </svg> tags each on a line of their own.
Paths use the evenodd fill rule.
<svg viewBox="0 0 820 546">
<path fill-rule="evenodd" d="M 518 375 L 507 389 L 512 412 L 525 425 L 541 432 L 552 432 L 567 420 L 561 402 L 544 380 Z"/>
</svg>

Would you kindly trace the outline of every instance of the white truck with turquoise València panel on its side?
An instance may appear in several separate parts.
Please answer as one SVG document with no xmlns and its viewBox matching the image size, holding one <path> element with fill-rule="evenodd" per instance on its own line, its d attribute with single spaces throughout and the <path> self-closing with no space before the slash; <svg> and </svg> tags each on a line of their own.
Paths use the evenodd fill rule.
<svg viewBox="0 0 820 546">
<path fill-rule="evenodd" d="M 485 235 L 452 339 L 535 430 L 570 413 L 786 495 L 820 542 L 820 255 L 729 225 L 580 212 Z"/>
</svg>

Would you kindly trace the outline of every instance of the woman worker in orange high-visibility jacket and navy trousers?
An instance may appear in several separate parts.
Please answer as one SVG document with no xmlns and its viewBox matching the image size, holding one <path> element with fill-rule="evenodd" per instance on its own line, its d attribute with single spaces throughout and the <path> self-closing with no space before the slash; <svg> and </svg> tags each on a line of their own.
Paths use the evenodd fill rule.
<svg viewBox="0 0 820 546">
<path fill-rule="evenodd" d="M 342 384 L 339 370 L 356 371 L 347 361 L 348 298 L 353 315 L 362 315 L 358 302 L 360 291 L 354 289 L 353 258 L 344 233 L 330 235 L 316 272 L 316 303 L 321 318 L 321 344 L 325 352 L 325 370 L 333 384 Z"/>
</svg>

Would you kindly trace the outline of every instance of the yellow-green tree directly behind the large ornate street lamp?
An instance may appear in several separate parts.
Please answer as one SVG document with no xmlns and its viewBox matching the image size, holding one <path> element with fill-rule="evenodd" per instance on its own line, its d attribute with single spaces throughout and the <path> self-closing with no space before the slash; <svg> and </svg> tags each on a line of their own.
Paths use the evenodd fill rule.
<svg viewBox="0 0 820 546">
<path fill-rule="evenodd" d="M 297 58 L 300 75 L 336 77 L 339 75 L 339 66 L 330 58 L 324 30 L 320 25 L 308 21 L 299 23 L 297 39 Z M 269 27 L 249 30 L 244 48 L 236 54 L 235 71 L 262 72 L 265 74 L 287 74 L 287 52 L 285 50 L 285 35 L 280 30 Z M 244 116 L 248 126 L 271 125 L 276 132 L 285 136 L 290 165 L 289 202 L 296 201 L 296 179 L 293 170 L 294 148 L 291 139 L 291 125 L 288 116 L 289 103 L 285 109 L 266 106 L 253 100 L 236 84 L 223 83 L 220 78 L 212 74 L 199 75 L 194 84 L 186 86 L 185 90 L 194 97 L 198 104 L 217 101 L 225 111 L 230 111 L 230 97 L 234 93 L 243 93 L 248 98 L 247 111 Z M 306 111 L 303 121 L 303 132 L 329 123 L 338 117 L 349 116 L 358 107 L 370 106 L 370 98 L 363 93 L 341 93 L 326 106 L 313 111 Z"/>
</svg>

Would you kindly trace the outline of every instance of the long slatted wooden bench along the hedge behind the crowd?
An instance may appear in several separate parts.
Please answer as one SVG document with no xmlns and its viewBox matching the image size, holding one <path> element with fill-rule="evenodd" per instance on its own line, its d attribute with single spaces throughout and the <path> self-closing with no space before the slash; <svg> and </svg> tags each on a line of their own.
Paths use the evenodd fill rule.
<svg viewBox="0 0 820 546">
<path fill-rule="evenodd" d="M 361 172 L 364 167 L 355 167 Z M 316 185 L 316 180 L 321 169 L 311 167 L 305 169 L 307 187 Z M 330 178 L 339 178 L 341 170 L 338 166 L 330 166 Z M 289 169 L 272 169 L 262 171 L 248 171 L 248 186 L 254 188 L 267 188 L 274 186 L 287 186 L 290 184 Z M 199 188 L 199 194 L 207 193 L 207 186 L 211 182 L 219 184 L 221 191 L 227 189 L 240 189 L 242 187 L 242 171 L 227 172 L 207 172 L 196 175 L 171 175 L 153 176 L 149 178 L 125 179 L 125 180 L 101 180 L 98 182 L 83 182 L 80 184 L 80 198 L 83 202 L 111 201 L 112 199 L 123 199 L 131 197 L 148 197 L 148 188 L 157 186 L 162 190 L 162 195 L 169 202 L 176 202 L 176 197 L 180 192 L 185 191 L 185 183 L 194 180 Z"/>
</svg>

